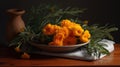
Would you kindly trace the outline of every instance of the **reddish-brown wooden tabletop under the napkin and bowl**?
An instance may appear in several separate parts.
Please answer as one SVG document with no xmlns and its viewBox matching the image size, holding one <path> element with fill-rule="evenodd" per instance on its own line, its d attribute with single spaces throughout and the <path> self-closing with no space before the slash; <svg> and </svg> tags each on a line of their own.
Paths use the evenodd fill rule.
<svg viewBox="0 0 120 67">
<path fill-rule="evenodd" d="M 20 59 L 10 48 L 0 47 L 1 66 L 120 66 L 120 44 L 115 44 L 115 50 L 110 55 L 96 61 L 41 55 L 31 55 L 31 59 Z"/>
</svg>

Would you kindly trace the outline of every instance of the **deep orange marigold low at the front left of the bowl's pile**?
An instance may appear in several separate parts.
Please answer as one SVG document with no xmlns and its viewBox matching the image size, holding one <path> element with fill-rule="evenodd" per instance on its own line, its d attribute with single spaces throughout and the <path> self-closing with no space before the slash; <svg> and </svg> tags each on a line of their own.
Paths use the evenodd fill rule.
<svg viewBox="0 0 120 67">
<path fill-rule="evenodd" d="M 49 45 L 62 46 L 64 38 L 65 37 L 63 33 L 57 33 L 53 38 L 53 42 L 50 42 Z"/>
</svg>

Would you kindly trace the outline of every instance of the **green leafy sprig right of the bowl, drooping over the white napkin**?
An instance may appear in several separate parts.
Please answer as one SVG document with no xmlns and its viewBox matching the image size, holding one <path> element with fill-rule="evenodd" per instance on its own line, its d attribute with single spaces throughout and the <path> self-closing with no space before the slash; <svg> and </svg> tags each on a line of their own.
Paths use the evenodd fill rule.
<svg viewBox="0 0 120 67">
<path fill-rule="evenodd" d="M 117 31 L 118 28 L 110 27 L 108 25 L 99 26 L 97 24 L 85 26 L 91 33 L 91 41 L 87 45 L 87 51 L 89 54 L 93 54 L 96 57 L 100 57 L 101 54 L 109 54 L 109 51 L 103 47 L 105 44 L 99 43 L 103 39 L 114 40 L 111 32 Z"/>
</svg>

